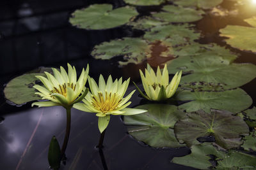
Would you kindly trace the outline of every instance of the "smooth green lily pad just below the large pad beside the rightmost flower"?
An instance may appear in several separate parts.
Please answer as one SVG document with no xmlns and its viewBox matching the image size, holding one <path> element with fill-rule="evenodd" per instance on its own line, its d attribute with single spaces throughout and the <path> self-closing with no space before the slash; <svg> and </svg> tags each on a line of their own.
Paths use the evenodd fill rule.
<svg viewBox="0 0 256 170">
<path fill-rule="evenodd" d="M 198 110 L 209 112 L 211 109 L 216 109 L 239 113 L 249 108 L 252 104 L 252 98 L 242 89 L 223 92 L 191 92 L 184 90 L 177 93 L 176 99 L 178 101 L 189 101 L 179 106 L 180 109 L 184 109 L 187 112 Z"/>
</svg>

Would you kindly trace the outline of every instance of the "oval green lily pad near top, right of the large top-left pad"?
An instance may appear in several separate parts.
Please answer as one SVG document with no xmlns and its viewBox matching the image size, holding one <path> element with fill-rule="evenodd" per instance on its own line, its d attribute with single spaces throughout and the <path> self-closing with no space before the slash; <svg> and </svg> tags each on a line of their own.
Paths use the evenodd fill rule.
<svg viewBox="0 0 256 170">
<path fill-rule="evenodd" d="M 202 10 L 166 5 L 163 12 L 154 13 L 152 16 L 164 22 L 195 22 L 202 19 L 203 14 Z"/>
</svg>

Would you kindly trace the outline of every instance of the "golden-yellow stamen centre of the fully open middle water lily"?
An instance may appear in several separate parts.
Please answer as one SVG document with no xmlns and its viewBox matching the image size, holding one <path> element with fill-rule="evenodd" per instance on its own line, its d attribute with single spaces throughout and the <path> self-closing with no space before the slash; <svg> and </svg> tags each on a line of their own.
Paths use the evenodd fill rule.
<svg viewBox="0 0 256 170">
<path fill-rule="evenodd" d="M 92 96 L 92 105 L 102 113 L 115 110 L 123 99 L 116 93 L 111 94 L 110 92 L 108 94 L 108 92 L 105 92 L 105 96 L 103 96 L 102 92 L 98 92 L 98 94 L 98 96 Z"/>
</svg>

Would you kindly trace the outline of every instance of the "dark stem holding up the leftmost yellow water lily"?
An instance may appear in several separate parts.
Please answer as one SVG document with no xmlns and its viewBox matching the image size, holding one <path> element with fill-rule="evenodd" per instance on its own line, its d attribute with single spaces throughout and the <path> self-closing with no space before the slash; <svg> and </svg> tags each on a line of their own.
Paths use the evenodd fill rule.
<svg viewBox="0 0 256 170">
<path fill-rule="evenodd" d="M 61 159 L 65 157 L 65 151 L 68 145 L 68 138 L 70 134 L 70 123 L 71 123 L 71 108 L 66 108 L 67 110 L 67 127 L 66 127 L 66 134 L 63 141 L 63 145 L 61 147 Z"/>
</svg>

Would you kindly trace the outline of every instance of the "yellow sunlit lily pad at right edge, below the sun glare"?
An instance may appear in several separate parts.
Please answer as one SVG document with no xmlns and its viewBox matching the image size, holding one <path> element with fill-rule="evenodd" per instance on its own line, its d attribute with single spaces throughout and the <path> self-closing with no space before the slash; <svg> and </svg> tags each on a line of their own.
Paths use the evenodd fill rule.
<svg viewBox="0 0 256 170">
<path fill-rule="evenodd" d="M 254 27 L 227 25 L 227 27 L 220 29 L 220 36 L 227 37 L 228 39 L 225 41 L 234 48 L 256 52 L 256 17 L 244 21 Z"/>
</svg>

